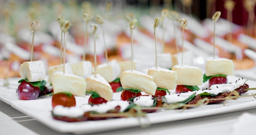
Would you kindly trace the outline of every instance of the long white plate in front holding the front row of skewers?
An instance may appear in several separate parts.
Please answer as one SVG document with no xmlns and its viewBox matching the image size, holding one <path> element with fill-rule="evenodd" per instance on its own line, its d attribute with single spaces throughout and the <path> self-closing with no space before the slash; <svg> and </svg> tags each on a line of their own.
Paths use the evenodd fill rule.
<svg viewBox="0 0 256 135">
<path fill-rule="evenodd" d="M 229 82 L 234 82 L 237 79 L 238 77 L 235 76 L 228 77 Z M 247 84 L 249 84 L 250 88 L 256 87 L 256 82 L 254 81 L 248 80 Z M 256 91 L 248 91 L 245 95 L 249 95 L 250 93 L 256 93 Z M 88 98 L 89 96 L 76 97 L 77 106 L 87 103 Z M 120 93 L 115 93 L 113 98 L 120 99 Z M 135 117 L 72 123 L 54 120 L 51 114 L 52 106 L 50 99 L 34 100 L 33 102 L 11 102 L 11 106 L 26 115 L 36 118 L 39 122 L 45 124 L 49 128 L 62 133 L 93 133 L 140 125 L 139 119 Z M 223 104 L 211 104 L 187 110 L 160 110 L 156 113 L 147 114 L 147 118 L 150 124 L 156 124 L 253 108 L 256 108 L 256 99 L 253 97 L 243 97 L 238 100 L 229 100 L 225 106 L 223 106 Z M 141 120 L 145 122 L 146 119 Z"/>
</svg>

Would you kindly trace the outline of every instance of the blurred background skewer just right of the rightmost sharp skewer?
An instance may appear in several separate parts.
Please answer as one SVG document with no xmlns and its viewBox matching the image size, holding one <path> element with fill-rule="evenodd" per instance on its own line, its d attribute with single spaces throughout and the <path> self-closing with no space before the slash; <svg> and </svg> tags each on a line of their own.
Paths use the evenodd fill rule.
<svg viewBox="0 0 256 135">
<path fill-rule="evenodd" d="M 225 3 L 224 3 L 224 7 L 225 9 L 227 9 L 227 21 L 231 22 L 231 25 L 230 25 L 230 32 L 228 33 L 227 35 L 227 40 L 229 42 L 232 42 L 232 18 L 233 18 L 233 15 L 232 15 L 232 11 L 235 7 L 235 2 L 233 0 L 226 0 Z"/>
</svg>

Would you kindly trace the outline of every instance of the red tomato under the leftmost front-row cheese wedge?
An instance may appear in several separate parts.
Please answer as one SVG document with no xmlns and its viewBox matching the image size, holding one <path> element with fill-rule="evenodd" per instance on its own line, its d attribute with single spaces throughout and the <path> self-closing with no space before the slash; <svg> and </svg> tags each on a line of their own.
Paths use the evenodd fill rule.
<svg viewBox="0 0 256 135">
<path fill-rule="evenodd" d="M 74 95 L 69 96 L 65 93 L 56 93 L 52 95 L 52 108 L 57 105 L 66 107 L 76 106 L 76 99 Z"/>
</svg>

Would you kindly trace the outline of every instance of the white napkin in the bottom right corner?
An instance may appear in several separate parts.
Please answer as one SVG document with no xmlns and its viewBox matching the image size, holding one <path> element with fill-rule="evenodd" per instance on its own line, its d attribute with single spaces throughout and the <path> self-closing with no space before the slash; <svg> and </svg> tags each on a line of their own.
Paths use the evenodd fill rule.
<svg viewBox="0 0 256 135">
<path fill-rule="evenodd" d="M 255 135 L 256 115 L 243 113 L 238 117 L 238 122 L 233 125 L 231 135 Z"/>
</svg>

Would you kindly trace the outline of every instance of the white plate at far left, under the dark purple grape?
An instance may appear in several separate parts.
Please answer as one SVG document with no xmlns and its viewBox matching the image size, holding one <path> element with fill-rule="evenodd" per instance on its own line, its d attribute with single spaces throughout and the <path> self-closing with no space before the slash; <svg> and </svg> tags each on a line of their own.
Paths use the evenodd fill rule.
<svg viewBox="0 0 256 135">
<path fill-rule="evenodd" d="M 0 100 L 3 102 L 6 102 L 7 104 L 11 104 L 11 102 L 15 101 L 25 101 L 25 100 L 19 100 L 18 94 L 17 94 L 17 89 L 18 89 L 18 81 L 20 80 L 20 77 L 15 77 L 15 78 L 8 78 L 9 86 L 5 87 L 3 86 L 4 80 L 0 80 Z M 41 99 L 47 99 L 47 98 L 52 98 L 52 97 L 47 97 L 47 96 L 40 96 L 36 100 L 41 100 Z"/>
</svg>

